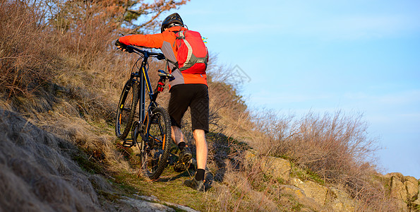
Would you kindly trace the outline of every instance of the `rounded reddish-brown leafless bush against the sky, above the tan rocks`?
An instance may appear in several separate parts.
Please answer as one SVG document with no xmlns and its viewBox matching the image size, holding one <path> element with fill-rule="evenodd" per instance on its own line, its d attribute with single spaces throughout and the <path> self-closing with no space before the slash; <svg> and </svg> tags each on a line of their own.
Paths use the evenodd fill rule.
<svg viewBox="0 0 420 212">
<path fill-rule="evenodd" d="M 269 136 L 265 146 L 270 148 L 265 153 L 287 155 L 329 182 L 354 176 L 366 163 L 373 162 L 378 148 L 376 140 L 368 137 L 360 114 L 337 112 L 320 117 L 310 112 L 299 120 L 277 118 L 259 127 Z"/>
</svg>

